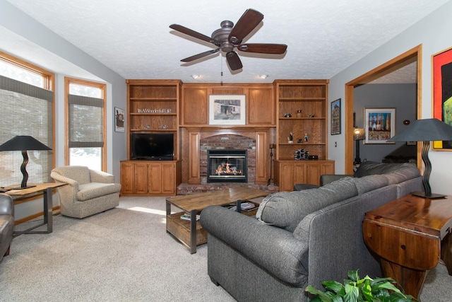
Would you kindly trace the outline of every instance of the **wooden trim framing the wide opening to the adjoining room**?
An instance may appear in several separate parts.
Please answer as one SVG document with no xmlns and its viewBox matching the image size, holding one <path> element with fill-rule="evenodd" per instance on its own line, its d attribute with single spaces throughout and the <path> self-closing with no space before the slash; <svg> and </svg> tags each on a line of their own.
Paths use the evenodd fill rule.
<svg viewBox="0 0 452 302">
<path fill-rule="evenodd" d="M 390 74 L 403 66 L 417 62 L 417 119 L 421 118 L 422 108 L 422 45 L 408 50 L 400 56 L 388 61 L 375 69 L 357 77 L 356 79 L 345 84 L 345 173 L 353 174 L 353 104 L 354 89 L 358 86 L 370 83 L 381 76 Z M 417 166 L 422 167 L 420 161 L 420 146 L 417 146 Z"/>
</svg>

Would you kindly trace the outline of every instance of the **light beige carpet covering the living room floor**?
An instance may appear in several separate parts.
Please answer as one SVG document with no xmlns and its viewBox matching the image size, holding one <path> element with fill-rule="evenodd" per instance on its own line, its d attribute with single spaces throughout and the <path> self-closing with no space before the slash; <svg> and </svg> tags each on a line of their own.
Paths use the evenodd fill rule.
<svg viewBox="0 0 452 302">
<path fill-rule="evenodd" d="M 13 239 L 0 262 L 0 301 L 234 301 L 208 277 L 207 245 L 191 255 L 166 233 L 165 197 L 121 197 L 85 219 L 53 218 L 53 233 Z M 450 297 L 452 277 L 438 265 L 420 298 Z"/>
</svg>

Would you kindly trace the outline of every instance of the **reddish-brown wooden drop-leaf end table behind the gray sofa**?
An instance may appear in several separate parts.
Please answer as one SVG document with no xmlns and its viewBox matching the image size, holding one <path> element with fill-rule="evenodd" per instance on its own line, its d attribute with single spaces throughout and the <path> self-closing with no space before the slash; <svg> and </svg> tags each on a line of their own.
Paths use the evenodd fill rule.
<svg viewBox="0 0 452 302">
<path fill-rule="evenodd" d="M 452 197 L 408 194 L 366 213 L 366 245 L 380 257 L 385 277 L 418 298 L 427 270 L 441 259 L 452 275 Z"/>
</svg>

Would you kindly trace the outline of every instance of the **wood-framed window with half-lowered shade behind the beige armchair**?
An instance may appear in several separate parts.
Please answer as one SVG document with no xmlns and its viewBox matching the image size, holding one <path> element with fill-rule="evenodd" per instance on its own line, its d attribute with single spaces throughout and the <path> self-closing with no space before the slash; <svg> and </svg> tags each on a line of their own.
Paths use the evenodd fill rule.
<svg viewBox="0 0 452 302">
<path fill-rule="evenodd" d="M 65 79 L 66 165 L 105 170 L 105 84 Z"/>
</svg>

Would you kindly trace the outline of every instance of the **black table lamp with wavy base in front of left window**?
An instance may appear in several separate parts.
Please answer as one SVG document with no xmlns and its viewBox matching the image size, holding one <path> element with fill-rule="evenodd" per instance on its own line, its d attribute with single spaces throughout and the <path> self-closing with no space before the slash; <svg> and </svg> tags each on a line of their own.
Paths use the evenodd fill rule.
<svg viewBox="0 0 452 302">
<path fill-rule="evenodd" d="M 13 189 L 20 190 L 26 189 L 28 187 L 35 187 L 34 185 L 27 186 L 28 173 L 25 170 L 28 163 L 28 153 L 27 150 L 52 150 L 48 146 L 42 144 L 37 139 L 30 137 L 28 135 L 18 135 L 13 137 L 6 143 L 0 146 L 0 151 L 22 151 L 23 162 L 20 165 L 20 172 L 22 172 L 23 178 L 20 183 L 20 187 L 14 187 Z"/>
</svg>

